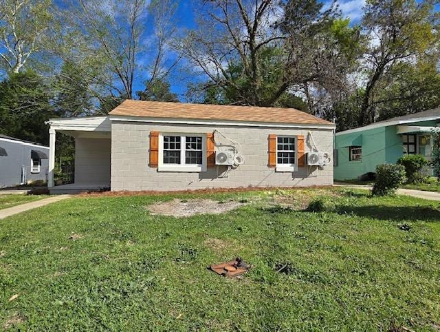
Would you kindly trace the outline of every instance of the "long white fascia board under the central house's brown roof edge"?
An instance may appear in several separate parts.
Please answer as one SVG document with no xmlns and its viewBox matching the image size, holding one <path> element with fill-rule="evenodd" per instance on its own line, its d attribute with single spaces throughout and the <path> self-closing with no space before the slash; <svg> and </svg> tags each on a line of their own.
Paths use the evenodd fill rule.
<svg viewBox="0 0 440 332">
<path fill-rule="evenodd" d="M 184 118 L 148 118 L 143 116 L 110 116 L 111 121 L 129 121 L 129 122 L 148 122 L 148 123 L 166 123 L 177 125 L 217 125 L 217 126 L 239 126 L 239 127 L 278 127 L 278 128 L 301 128 L 301 129 L 334 129 L 336 125 L 307 125 L 290 123 L 265 123 L 265 122 L 247 122 L 247 121 L 221 121 L 221 120 L 203 120 L 203 119 L 184 119 Z"/>
</svg>

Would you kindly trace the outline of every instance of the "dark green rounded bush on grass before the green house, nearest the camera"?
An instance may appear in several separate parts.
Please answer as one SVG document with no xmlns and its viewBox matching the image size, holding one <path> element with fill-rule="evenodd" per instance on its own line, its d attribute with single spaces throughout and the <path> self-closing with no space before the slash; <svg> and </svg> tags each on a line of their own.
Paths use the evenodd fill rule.
<svg viewBox="0 0 440 332">
<path fill-rule="evenodd" d="M 394 194 L 395 190 L 406 181 L 403 165 L 383 164 L 376 167 L 376 182 L 372 194 L 384 196 Z"/>
</svg>

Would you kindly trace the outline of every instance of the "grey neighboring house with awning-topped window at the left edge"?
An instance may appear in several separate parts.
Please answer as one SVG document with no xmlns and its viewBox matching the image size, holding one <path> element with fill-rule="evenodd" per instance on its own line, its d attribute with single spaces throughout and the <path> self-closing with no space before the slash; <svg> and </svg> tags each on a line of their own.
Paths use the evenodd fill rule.
<svg viewBox="0 0 440 332">
<path fill-rule="evenodd" d="M 47 181 L 49 147 L 0 134 L 0 188 Z"/>
</svg>

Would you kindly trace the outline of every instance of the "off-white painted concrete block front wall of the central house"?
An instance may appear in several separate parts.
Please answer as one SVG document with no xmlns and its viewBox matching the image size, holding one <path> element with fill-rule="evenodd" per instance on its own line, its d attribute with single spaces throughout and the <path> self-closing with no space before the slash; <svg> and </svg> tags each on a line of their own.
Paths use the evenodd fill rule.
<svg viewBox="0 0 440 332">
<path fill-rule="evenodd" d="M 181 132 L 206 134 L 218 129 L 241 143 L 245 163 L 233 169 L 228 178 L 218 178 L 217 169 L 208 168 L 201 173 L 157 172 L 148 166 L 150 132 Z M 151 123 L 116 122 L 111 125 L 111 190 L 184 190 L 233 187 L 294 187 L 333 185 L 333 163 L 324 169 L 300 167 L 298 172 L 275 172 L 267 167 L 268 136 L 304 135 L 307 129 L 270 129 L 261 127 L 217 127 L 160 125 Z M 333 153 L 331 129 L 313 129 L 312 135 L 321 151 Z M 305 141 L 305 152 L 311 150 L 311 142 Z M 225 167 L 221 167 L 224 170 Z"/>
</svg>

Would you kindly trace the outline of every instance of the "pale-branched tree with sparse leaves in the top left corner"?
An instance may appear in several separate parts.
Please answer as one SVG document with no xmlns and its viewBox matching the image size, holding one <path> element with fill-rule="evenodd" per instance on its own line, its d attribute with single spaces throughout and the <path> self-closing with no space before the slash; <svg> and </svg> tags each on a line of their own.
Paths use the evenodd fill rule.
<svg viewBox="0 0 440 332">
<path fill-rule="evenodd" d="M 0 59 L 17 74 L 43 48 L 53 15 L 51 0 L 0 0 Z"/>
</svg>

